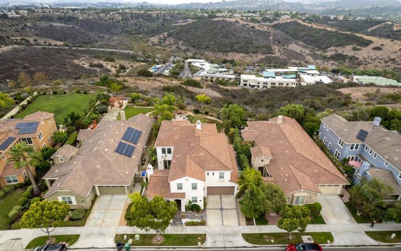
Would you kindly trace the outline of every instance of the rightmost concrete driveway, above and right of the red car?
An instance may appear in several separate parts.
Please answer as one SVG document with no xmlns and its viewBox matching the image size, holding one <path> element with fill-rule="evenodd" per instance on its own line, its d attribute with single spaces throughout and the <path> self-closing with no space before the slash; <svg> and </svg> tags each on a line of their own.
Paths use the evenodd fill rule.
<svg viewBox="0 0 401 251">
<path fill-rule="evenodd" d="M 351 224 L 356 223 L 347 207 L 338 195 L 319 195 L 317 202 L 322 205 L 322 215 L 326 224 Z"/>
</svg>

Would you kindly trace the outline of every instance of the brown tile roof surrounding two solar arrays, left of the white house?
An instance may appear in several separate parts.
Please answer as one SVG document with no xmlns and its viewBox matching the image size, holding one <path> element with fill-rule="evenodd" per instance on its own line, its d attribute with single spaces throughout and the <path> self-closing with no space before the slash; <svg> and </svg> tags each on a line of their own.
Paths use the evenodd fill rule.
<svg viewBox="0 0 401 251">
<path fill-rule="evenodd" d="M 59 179 L 56 185 L 83 196 L 86 196 L 94 185 L 129 186 L 137 171 L 152 124 L 153 119 L 143 114 L 127 121 L 100 122 L 98 127 L 92 130 L 95 131 L 92 137 L 78 150 L 77 157 L 73 156 L 69 162 L 53 166 L 45 178 L 70 169 L 68 175 Z M 132 157 L 115 153 L 128 127 L 142 132 Z M 55 190 L 57 188 L 49 189 L 45 197 Z"/>
</svg>

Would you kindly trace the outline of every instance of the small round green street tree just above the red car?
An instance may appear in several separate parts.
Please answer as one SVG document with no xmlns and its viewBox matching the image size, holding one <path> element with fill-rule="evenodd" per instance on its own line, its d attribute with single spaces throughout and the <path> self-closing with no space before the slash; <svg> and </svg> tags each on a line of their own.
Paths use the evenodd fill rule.
<svg viewBox="0 0 401 251">
<path fill-rule="evenodd" d="M 292 232 L 305 232 L 306 227 L 310 223 L 310 211 L 305 206 L 285 206 L 281 210 L 281 218 L 277 222 L 277 226 L 290 233 L 289 239 L 292 239 Z"/>
</svg>

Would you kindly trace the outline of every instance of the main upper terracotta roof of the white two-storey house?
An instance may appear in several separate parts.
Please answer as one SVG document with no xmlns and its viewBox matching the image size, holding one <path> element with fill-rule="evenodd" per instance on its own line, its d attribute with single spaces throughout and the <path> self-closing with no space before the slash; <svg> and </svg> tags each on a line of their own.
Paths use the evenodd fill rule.
<svg viewBox="0 0 401 251">
<path fill-rule="evenodd" d="M 232 171 L 231 181 L 238 179 L 234 151 L 225 134 L 218 134 L 215 123 L 195 124 L 162 121 L 155 147 L 173 146 L 168 181 L 185 176 L 205 181 L 205 171 Z"/>
</svg>

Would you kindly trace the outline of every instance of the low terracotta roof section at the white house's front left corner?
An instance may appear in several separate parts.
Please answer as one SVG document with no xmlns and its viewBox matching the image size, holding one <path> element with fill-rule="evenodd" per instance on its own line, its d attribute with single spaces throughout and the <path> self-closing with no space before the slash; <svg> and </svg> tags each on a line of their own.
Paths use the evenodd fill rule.
<svg viewBox="0 0 401 251">
<path fill-rule="evenodd" d="M 171 193 L 170 183 L 168 183 L 169 170 L 154 170 L 149 176 L 149 184 L 146 196 L 153 198 L 155 195 L 161 195 L 165 199 L 185 198 L 185 193 Z"/>
</svg>

